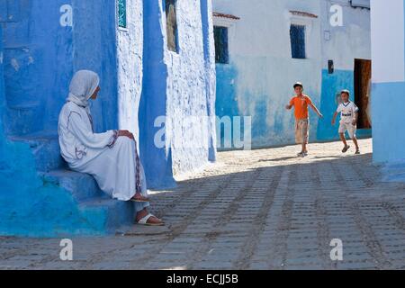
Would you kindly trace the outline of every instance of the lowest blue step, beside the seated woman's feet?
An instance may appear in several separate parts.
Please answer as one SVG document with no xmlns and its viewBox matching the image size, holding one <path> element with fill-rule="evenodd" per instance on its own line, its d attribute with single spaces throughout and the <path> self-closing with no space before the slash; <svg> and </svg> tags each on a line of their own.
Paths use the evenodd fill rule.
<svg viewBox="0 0 405 288">
<path fill-rule="evenodd" d="M 79 203 L 85 211 L 88 224 L 101 234 L 114 234 L 122 227 L 133 225 L 135 210 L 133 202 L 113 199 L 92 199 Z"/>
</svg>

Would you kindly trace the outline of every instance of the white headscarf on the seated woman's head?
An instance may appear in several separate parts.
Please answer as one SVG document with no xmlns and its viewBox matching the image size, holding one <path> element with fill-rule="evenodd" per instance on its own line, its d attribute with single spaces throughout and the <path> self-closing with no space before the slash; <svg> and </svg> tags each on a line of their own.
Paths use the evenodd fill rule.
<svg viewBox="0 0 405 288">
<path fill-rule="evenodd" d="M 94 94 L 95 89 L 100 85 L 100 77 L 89 70 L 77 71 L 69 86 L 67 101 L 87 108 L 88 100 Z"/>
</svg>

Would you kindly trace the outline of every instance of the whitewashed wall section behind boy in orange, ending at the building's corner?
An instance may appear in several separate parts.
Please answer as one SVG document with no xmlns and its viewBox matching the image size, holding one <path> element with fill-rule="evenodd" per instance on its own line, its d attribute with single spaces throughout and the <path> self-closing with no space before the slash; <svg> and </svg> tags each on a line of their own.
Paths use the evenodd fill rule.
<svg viewBox="0 0 405 288">
<path fill-rule="evenodd" d="M 301 81 L 305 91 L 319 103 L 321 83 L 320 18 L 297 17 L 290 10 L 320 15 L 320 1 L 285 0 L 214 0 L 217 13 L 240 17 L 229 29 L 229 61 L 238 70 L 235 79 L 238 109 L 242 115 L 257 116 L 257 102 L 266 105 L 268 135 L 257 139 L 254 146 L 293 142 L 293 114 L 284 106 L 293 95 L 293 83 Z M 293 59 L 290 25 L 305 22 L 307 34 L 306 59 Z M 217 95 L 219 97 L 220 95 Z M 252 97 L 255 97 L 253 99 Z M 254 125 L 255 125 L 255 119 Z M 284 127 L 283 133 L 276 130 Z M 312 131 L 316 131 L 316 122 Z"/>
</svg>

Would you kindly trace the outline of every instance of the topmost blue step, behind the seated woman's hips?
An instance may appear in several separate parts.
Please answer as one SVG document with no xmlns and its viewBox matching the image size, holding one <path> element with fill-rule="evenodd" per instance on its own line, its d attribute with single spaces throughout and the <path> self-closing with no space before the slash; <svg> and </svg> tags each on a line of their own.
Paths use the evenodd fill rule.
<svg viewBox="0 0 405 288">
<path fill-rule="evenodd" d="M 58 135 L 40 132 L 25 136 L 9 136 L 9 139 L 30 145 L 37 170 L 40 172 L 67 167 L 60 156 Z"/>
</svg>

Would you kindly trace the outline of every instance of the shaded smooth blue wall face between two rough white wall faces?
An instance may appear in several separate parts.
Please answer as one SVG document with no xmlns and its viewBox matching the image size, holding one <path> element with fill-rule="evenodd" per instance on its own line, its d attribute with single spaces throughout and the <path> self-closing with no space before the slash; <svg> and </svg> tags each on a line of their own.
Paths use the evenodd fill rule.
<svg viewBox="0 0 405 288">
<path fill-rule="evenodd" d="M 166 115 L 167 66 L 161 1 L 144 2 L 143 89 L 139 103 L 140 157 L 148 187 L 174 187 L 170 148 L 157 148 L 155 135 L 166 127 L 155 127 L 157 117 Z M 166 145 L 169 145 L 166 143 Z"/>
</svg>

